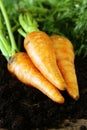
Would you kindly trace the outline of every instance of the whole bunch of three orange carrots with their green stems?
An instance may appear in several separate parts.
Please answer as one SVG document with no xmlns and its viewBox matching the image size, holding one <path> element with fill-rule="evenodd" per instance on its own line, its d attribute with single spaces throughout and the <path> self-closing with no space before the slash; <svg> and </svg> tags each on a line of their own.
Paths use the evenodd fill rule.
<svg viewBox="0 0 87 130">
<path fill-rule="evenodd" d="M 74 50 L 71 42 L 61 36 L 50 37 L 38 29 L 37 22 L 28 13 L 19 16 L 23 28 L 19 32 L 25 37 L 25 52 L 16 47 L 9 19 L 0 0 L 11 45 L 0 38 L 0 49 L 7 58 L 7 68 L 21 82 L 31 85 L 57 103 L 64 103 L 59 90 L 67 90 L 74 98 L 79 98 L 79 90 L 74 67 Z M 3 10 L 4 9 L 4 10 Z M 3 34 L 2 34 L 3 35 Z M 6 49 L 8 48 L 8 49 Z M 69 69 L 69 71 L 68 71 Z"/>
</svg>

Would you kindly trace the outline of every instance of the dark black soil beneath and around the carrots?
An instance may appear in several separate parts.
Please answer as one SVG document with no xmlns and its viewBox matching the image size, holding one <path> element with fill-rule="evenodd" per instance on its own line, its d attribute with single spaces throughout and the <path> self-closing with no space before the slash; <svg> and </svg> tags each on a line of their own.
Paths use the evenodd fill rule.
<svg viewBox="0 0 87 130">
<path fill-rule="evenodd" d="M 71 99 L 62 93 L 64 104 L 51 101 L 35 88 L 19 82 L 7 70 L 5 58 L 0 54 L 0 128 L 30 130 L 31 128 L 60 128 L 87 119 L 87 58 L 75 58 L 80 98 Z M 80 130 L 87 126 L 81 124 Z"/>
</svg>

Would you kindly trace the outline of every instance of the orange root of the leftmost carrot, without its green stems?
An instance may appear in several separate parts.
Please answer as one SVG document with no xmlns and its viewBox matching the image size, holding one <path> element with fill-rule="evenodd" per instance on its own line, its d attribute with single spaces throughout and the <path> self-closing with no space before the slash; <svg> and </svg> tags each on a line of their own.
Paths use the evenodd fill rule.
<svg viewBox="0 0 87 130">
<path fill-rule="evenodd" d="M 11 57 L 7 68 L 22 83 L 35 87 L 54 102 L 64 103 L 61 93 L 37 70 L 27 53 L 16 53 Z"/>
</svg>

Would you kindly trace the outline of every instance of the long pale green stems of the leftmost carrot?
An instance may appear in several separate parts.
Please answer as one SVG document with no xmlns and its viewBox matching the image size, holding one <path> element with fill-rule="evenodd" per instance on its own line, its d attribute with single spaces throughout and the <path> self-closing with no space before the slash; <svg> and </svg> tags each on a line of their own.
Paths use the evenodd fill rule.
<svg viewBox="0 0 87 130">
<path fill-rule="evenodd" d="M 12 30 L 11 30 L 10 21 L 9 21 L 9 18 L 6 13 L 2 0 L 0 0 L 0 10 L 1 10 L 0 12 L 0 50 L 8 61 L 9 58 L 19 50 L 16 46 L 16 42 L 15 42 Z M 4 18 L 4 22 L 3 22 L 3 18 Z M 4 30 L 5 25 L 8 31 L 8 35 L 5 34 L 5 30 Z"/>
</svg>

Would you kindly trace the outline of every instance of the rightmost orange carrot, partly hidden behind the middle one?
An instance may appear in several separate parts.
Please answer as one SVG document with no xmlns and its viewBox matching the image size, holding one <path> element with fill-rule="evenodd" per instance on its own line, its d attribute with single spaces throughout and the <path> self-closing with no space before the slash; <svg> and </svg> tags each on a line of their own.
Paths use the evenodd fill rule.
<svg viewBox="0 0 87 130">
<path fill-rule="evenodd" d="M 78 99 L 79 90 L 74 65 L 73 45 L 67 38 L 62 36 L 52 36 L 51 40 L 53 41 L 58 67 L 67 84 L 66 90 L 72 98 Z"/>
</svg>

